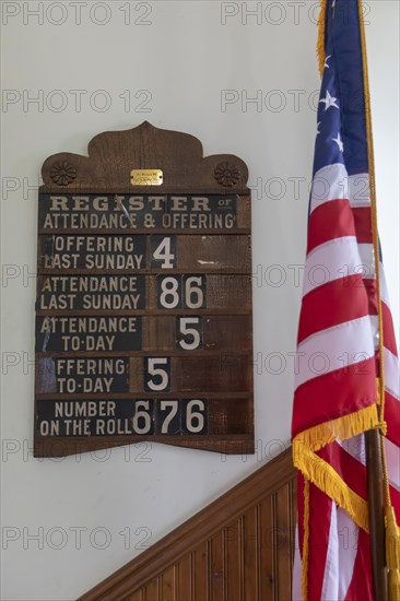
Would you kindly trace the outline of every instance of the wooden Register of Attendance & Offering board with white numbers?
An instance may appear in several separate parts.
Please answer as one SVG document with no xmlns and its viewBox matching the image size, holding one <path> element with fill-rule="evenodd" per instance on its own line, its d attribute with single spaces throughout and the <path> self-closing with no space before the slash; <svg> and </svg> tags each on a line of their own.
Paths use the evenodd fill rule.
<svg viewBox="0 0 400 601">
<path fill-rule="evenodd" d="M 247 167 L 144 122 L 39 190 L 35 455 L 254 452 Z"/>
</svg>

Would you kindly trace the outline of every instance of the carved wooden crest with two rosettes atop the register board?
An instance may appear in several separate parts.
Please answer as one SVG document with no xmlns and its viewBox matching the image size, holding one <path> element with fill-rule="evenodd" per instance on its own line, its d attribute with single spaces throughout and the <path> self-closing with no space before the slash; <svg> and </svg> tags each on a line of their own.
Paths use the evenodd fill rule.
<svg viewBox="0 0 400 601">
<path fill-rule="evenodd" d="M 89 156 L 62 152 L 43 165 L 44 189 L 90 189 L 134 191 L 131 170 L 161 169 L 163 185 L 157 192 L 249 193 L 248 169 L 237 156 L 203 156 L 200 140 L 188 133 L 157 129 L 144 121 L 126 131 L 106 131 L 89 143 Z M 154 192 L 154 187 L 140 187 Z"/>
</svg>

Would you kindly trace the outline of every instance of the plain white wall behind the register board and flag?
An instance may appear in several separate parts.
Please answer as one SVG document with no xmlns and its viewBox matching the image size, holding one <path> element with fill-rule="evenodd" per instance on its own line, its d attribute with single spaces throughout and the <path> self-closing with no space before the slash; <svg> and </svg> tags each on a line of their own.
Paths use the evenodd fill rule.
<svg viewBox="0 0 400 601">
<path fill-rule="evenodd" d="M 24 14 L 23 4 L 32 10 L 39 3 L 2 2 L 3 11 L 21 10 L 8 22 L 3 13 L 2 26 L 2 85 L 9 101 L 10 91 L 16 91 L 15 104 L 4 105 L 1 115 L 2 182 L 21 186 L 3 191 L 1 200 L 2 262 L 21 271 L 2 287 L 2 351 L 15 353 L 17 363 L 2 379 L 2 534 L 7 545 L 2 599 L 55 601 L 83 593 L 139 554 L 143 538 L 153 544 L 287 445 L 292 403 L 287 353 L 295 349 L 301 296 L 295 271 L 287 266 L 304 261 L 316 130 L 316 114 L 308 99 L 319 85 L 316 25 L 309 15 L 318 11 L 309 1 L 263 2 L 267 13 L 261 24 L 255 16 L 248 16 L 246 24 L 245 13 L 243 24 L 239 13 L 226 17 L 223 25 L 217 1 L 91 0 L 81 3 L 78 25 L 72 2 L 64 1 L 62 7 L 61 2 L 45 2 L 43 24 L 26 9 Z M 127 13 L 120 10 L 128 4 L 130 25 L 125 24 Z M 109 22 L 102 26 L 93 20 L 107 17 L 104 5 Z M 148 5 L 151 14 L 143 20 L 150 24 L 134 24 Z M 230 2 L 227 8 L 240 7 L 242 2 Z M 256 2 L 247 4 L 255 7 Z M 380 233 L 398 321 L 399 3 L 373 0 L 366 9 Z M 63 24 L 52 23 L 64 16 Z M 273 24 L 280 19 L 280 24 Z M 51 95 L 56 90 L 62 91 L 68 103 L 60 113 L 55 111 L 60 96 Z M 81 111 L 75 110 L 71 90 L 87 91 Z M 103 113 L 89 101 L 99 90 L 111 101 Z M 128 90 L 130 111 L 120 97 Z M 263 106 L 258 111 L 255 104 L 248 104 L 243 110 L 237 102 L 223 111 L 223 90 L 235 90 L 244 98 L 260 90 Z M 280 92 L 271 95 L 273 90 Z M 38 91 L 44 91 L 42 110 L 34 104 L 24 107 L 23 95 L 26 99 L 26 94 L 32 97 Z M 151 95 L 150 113 L 139 110 L 145 95 L 136 98 L 138 91 Z M 294 91 L 301 91 L 298 107 Z M 92 105 L 97 102 L 101 108 L 102 99 L 98 94 L 92 96 Z M 275 110 L 280 102 L 281 110 Z M 255 187 L 257 453 L 223 458 L 148 444 L 106 456 L 39 461 L 30 452 L 34 373 L 27 364 L 34 357 L 35 280 L 27 272 L 35 271 L 37 197 L 26 184 L 37 186 L 42 163 L 50 154 L 84 154 L 96 133 L 130 128 L 145 119 L 197 135 L 204 154 L 234 153 L 249 166 L 249 182 Z M 270 270 L 270 266 L 282 266 L 282 271 Z M 286 280 L 272 285 L 280 274 Z M 270 353 L 281 353 L 287 362 L 281 375 L 273 374 L 280 369 L 278 356 L 268 366 Z M 266 358 L 267 368 L 261 366 Z M 84 530 L 77 544 L 80 527 Z M 35 533 L 39 540 L 30 539 Z M 106 549 L 99 549 L 103 545 Z"/>
</svg>

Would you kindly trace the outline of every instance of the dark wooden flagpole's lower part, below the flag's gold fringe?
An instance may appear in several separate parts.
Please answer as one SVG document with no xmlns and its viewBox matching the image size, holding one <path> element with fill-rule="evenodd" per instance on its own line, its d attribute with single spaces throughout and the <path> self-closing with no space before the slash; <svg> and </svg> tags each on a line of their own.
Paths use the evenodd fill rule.
<svg viewBox="0 0 400 601">
<path fill-rule="evenodd" d="M 374 599 L 387 601 L 388 582 L 385 552 L 385 498 L 381 469 L 381 434 L 379 429 L 365 433 L 366 466 L 368 479 L 368 522 Z"/>
</svg>

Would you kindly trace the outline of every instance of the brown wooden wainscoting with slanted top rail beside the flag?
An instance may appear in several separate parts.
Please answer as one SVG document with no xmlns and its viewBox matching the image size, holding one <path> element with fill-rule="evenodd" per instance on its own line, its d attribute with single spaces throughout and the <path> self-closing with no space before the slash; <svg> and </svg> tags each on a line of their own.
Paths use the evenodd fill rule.
<svg viewBox="0 0 400 601">
<path fill-rule="evenodd" d="M 289 449 L 79 601 L 289 601 L 295 488 Z"/>
</svg>

